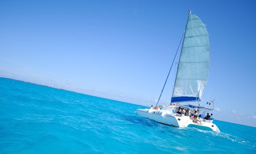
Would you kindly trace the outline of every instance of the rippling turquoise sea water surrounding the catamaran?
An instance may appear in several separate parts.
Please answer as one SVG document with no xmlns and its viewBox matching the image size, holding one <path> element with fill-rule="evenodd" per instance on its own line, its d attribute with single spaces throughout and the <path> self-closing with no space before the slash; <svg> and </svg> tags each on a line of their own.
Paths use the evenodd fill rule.
<svg viewBox="0 0 256 154">
<path fill-rule="evenodd" d="M 0 153 L 256 154 L 256 127 L 221 133 L 138 117 L 145 107 L 0 78 Z"/>
</svg>

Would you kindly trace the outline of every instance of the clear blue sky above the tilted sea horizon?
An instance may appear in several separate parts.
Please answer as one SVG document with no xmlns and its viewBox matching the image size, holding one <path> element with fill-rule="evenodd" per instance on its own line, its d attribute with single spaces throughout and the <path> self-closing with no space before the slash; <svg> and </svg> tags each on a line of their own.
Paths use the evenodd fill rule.
<svg viewBox="0 0 256 154">
<path fill-rule="evenodd" d="M 210 38 L 201 105 L 216 99 L 216 119 L 256 127 L 254 0 L 1 0 L 0 76 L 150 106 L 190 8 Z"/>
</svg>

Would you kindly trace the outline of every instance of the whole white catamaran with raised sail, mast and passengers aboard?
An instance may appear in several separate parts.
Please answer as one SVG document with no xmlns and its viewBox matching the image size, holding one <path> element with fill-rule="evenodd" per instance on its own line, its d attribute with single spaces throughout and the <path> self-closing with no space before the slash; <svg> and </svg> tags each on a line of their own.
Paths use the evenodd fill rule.
<svg viewBox="0 0 256 154">
<path fill-rule="evenodd" d="M 137 109 L 136 113 L 141 117 L 174 127 L 197 127 L 220 132 L 219 128 L 212 123 L 213 119 L 209 116 L 209 118 L 204 117 L 205 113 L 213 108 L 208 109 L 199 105 L 189 104 L 195 101 L 201 101 L 202 93 L 208 81 L 208 70 L 208 32 L 201 19 L 195 14 L 191 14 L 190 10 L 184 32 L 171 103 L 163 109 L 152 106 L 150 109 Z M 184 105 L 180 106 L 180 104 Z"/>
</svg>

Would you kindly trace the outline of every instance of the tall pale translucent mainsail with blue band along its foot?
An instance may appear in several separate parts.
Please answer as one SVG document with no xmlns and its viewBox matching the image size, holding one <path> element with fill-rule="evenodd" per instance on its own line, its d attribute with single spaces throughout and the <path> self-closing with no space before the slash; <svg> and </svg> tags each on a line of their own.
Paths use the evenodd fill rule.
<svg viewBox="0 0 256 154">
<path fill-rule="evenodd" d="M 171 101 L 200 101 L 208 70 L 208 32 L 201 19 L 190 11 Z"/>
</svg>

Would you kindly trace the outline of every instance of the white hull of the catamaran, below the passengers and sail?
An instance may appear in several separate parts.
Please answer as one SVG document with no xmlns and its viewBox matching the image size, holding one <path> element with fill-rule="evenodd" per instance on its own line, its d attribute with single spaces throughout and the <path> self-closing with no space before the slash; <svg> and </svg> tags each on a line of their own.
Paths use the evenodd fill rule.
<svg viewBox="0 0 256 154">
<path fill-rule="evenodd" d="M 169 109 L 137 109 L 137 115 L 145 118 L 155 120 L 156 122 L 171 125 L 174 127 L 197 127 L 200 129 L 213 130 L 220 132 L 219 128 L 209 120 L 200 118 L 198 121 L 190 119 L 189 116 L 180 116 L 173 112 L 172 108 Z"/>
</svg>

